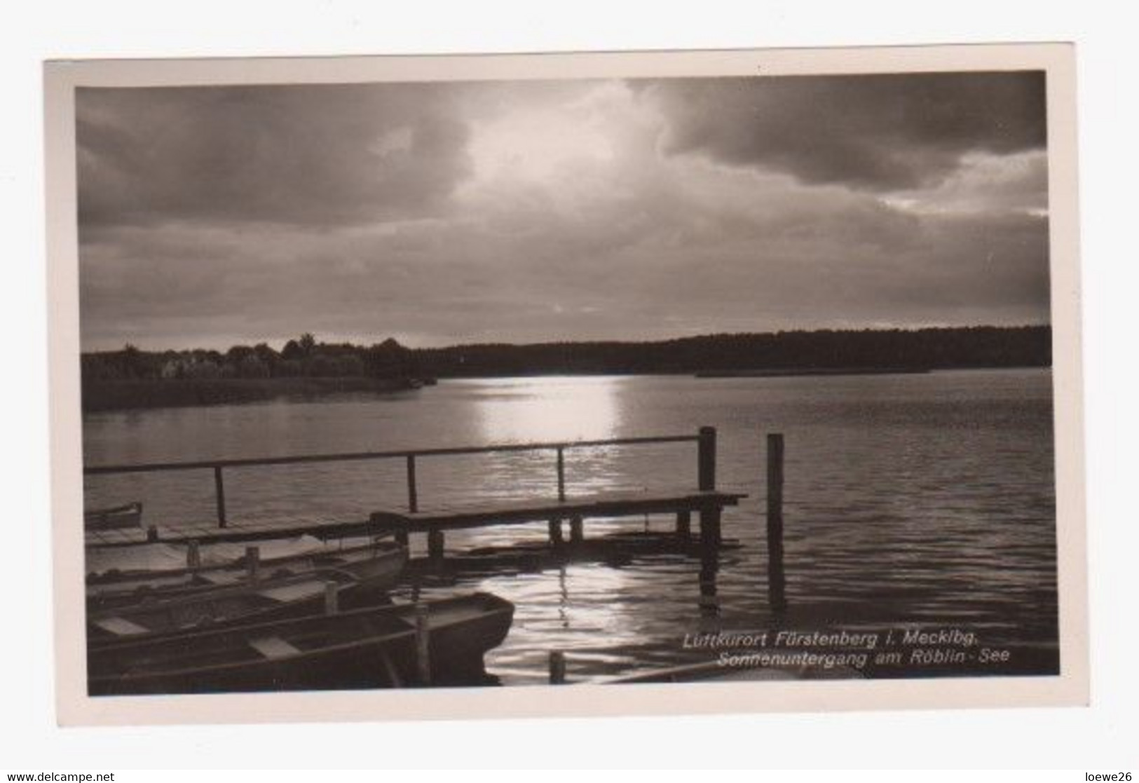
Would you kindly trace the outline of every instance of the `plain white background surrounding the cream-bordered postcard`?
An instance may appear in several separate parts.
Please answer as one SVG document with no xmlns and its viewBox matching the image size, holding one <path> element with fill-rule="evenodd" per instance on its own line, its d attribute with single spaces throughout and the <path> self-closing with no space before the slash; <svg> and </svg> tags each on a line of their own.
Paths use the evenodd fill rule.
<svg viewBox="0 0 1139 783">
<path fill-rule="evenodd" d="M 1123 3 L 1115 5 L 1122 9 Z M 0 769 L 559 764 L 1136 768 L 1136 50 L 1108 3 L 9 3 L 0 22 Z M 55 725 L 41 60 L 1075 41 L 1092 705 L 334 726 Z M 124 776 L 128 777 L 129 776 Z M 1071 780 L 1083 780 L 1072 774 Z"/>
</svg>

